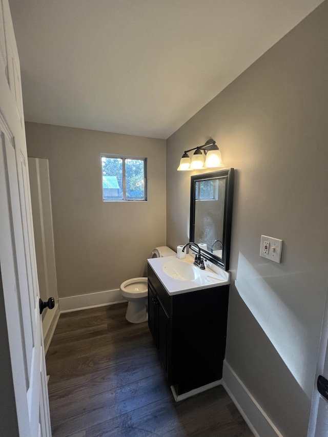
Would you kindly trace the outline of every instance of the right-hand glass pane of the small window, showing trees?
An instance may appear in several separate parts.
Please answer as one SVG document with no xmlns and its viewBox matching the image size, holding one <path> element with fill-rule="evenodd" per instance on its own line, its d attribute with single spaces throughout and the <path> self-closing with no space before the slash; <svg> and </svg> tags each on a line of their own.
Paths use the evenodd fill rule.
<svg viewBox="0 0 328 437">
<path fill-rule="evenodd" d="M 143 159 L 125 160 L 126 194 L 129 200 L 145 199 L 145 171 Z"/>
</svg>

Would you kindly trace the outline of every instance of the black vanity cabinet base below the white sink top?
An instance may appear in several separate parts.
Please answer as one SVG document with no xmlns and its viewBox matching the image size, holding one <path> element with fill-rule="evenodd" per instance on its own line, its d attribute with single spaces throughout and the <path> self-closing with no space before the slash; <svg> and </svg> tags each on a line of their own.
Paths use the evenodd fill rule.
<svg viewBox="0 0 328 437">
<path fill-rule="evenodd" d="M 171 296 L 148 266 L 148 325 L 178 395 L 222 378 L 228 299 L 229 285 Z"/>
</svg>

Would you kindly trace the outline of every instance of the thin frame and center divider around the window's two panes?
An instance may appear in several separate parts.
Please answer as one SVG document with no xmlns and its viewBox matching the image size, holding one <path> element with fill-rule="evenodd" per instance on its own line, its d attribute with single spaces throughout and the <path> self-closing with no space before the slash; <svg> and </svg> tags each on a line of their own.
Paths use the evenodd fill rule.
<svg viewBox="0 0 328 437">
<path fill-rule="evenodd" d="M 104 199 L 104 174 L 103 174 L 103 158 L 113 158 L 122 160 L 122 199 Z M 128 199 L 127 198 L 127 184 L 126 184 L 126 165 L 127 159 L 144 161 L 144 198 L 143 199 Z M 101 191 L 103 192 L 103 202 L 147 202 L 148 201 L 148 181 L 147 181 L 147 157 L 145 156 L 128 156 L 128 155 L 114 155 L 111 153 L 100 154 L 101 164 Z"/>
</svg>

